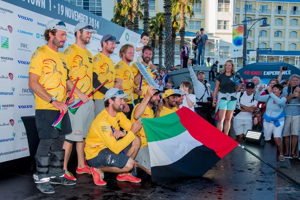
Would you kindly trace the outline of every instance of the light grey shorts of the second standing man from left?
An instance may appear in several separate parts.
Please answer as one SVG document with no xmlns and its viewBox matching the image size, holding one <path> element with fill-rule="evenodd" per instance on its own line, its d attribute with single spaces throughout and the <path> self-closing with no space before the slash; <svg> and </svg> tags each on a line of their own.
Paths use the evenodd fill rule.
<svg viewBox="0 0 300 200">
<path fill-rule="evenodd" d="M 74 103 L 72 103 L 70 106 L 79 101 L 79 98 L 75 98 Z M 65 139 L 71 141 L 83 141 L 83 138 L 86 138 L 89 126 L 94 119 L 92 99 L 89 99 L 88 102 L 83 103 L 77 109 L 75 114 L 72 114 L 70 111 L 68 111 L 68 113 L 73 131 L 70 134 L 65 135 Z"/>
</svg>

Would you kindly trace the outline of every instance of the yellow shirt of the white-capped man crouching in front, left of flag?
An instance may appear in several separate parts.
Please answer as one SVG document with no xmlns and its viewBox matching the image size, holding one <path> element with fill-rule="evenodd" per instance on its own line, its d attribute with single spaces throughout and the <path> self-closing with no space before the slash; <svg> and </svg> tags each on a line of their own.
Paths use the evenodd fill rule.
<svg viewBox="0 0 300 200">
<path fill-rule="evenodd" d="M 106 109 L 103 109 L 92 121 L 86 139 L 84 152 L 86 159 L 91 159 L 98 155 L 99 151 L 109 148 L 112 152 L 118 154 L 127 147 L 135 138 L 131 129 L 131 121 L 126 118 L 123 112 L 118 112 L 115 117 L 110 116 Z M 110 136 L 111 128 L 119 130 L 122 127 L 127 130 L 127 134 L 118 141 Z"/>
</svg>

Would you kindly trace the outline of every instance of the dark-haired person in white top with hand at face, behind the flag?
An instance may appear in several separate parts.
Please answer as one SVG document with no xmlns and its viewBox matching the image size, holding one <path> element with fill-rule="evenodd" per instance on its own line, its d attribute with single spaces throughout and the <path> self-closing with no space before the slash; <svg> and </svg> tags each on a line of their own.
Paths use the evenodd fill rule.
<svg viewBox="0 0 300 200">
<path fill-rule="evenodd" d="M 179 88 L 183 93 L 186 95 L 183 96 L 182 104 L 179 105 L 179 108 L 181 107 L 187 107 L 192 111 L 195 111 L 194 105 L 196 104 L 196 96 L 193 93 L 192 84 L 191 82 L 185 80 L 180 83 Z"/>
</svg>

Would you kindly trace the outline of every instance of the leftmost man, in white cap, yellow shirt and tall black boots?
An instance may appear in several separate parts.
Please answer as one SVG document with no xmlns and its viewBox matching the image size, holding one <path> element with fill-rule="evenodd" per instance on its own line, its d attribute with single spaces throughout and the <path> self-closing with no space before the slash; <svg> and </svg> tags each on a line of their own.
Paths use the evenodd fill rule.
<svg viewBox="0 0 300 200">
<path fill-rule="evenodd" d="M 36 187 L 43 193 L 52 194 L 50 183 L 73 185 L 75 180 L 65 177 L 63 170 L 64 150 L 62 145 L 65 134 L 72 131 L 65 105 L 69 94 L 66 81 L 66 57 L 58 51 L 66 40 L 66 29 L 63 21 L 52 19 L 44 32 L 46 45 L 38 48 L 31 56 L 29 65 L 29 84 L 35 95 L 35 123 L 40 139 L 36 150 L 36 173 L 33 174 Z M 70 98 L 70 102 L 74 97 Z M 59 112 L 64 112 L 61 130 L 51 127 Z"/>
</svg>

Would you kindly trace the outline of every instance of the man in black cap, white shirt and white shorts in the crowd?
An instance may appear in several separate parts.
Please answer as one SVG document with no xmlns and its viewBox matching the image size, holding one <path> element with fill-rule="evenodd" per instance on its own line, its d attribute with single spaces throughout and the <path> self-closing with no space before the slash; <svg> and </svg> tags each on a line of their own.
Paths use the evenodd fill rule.
<svg viewBox="0 0 300 200">
<path fill-rule="evenodd" d="M 240 112 L 233 118 L 233 129 L 237 140 L 242 140 L 247 130 L 252 129 L 252 112 L 256 109 L 257 100 L 254 100 L 254 83 L 246 84 L 246 92 L 237 92 Z"/>
</svg>

